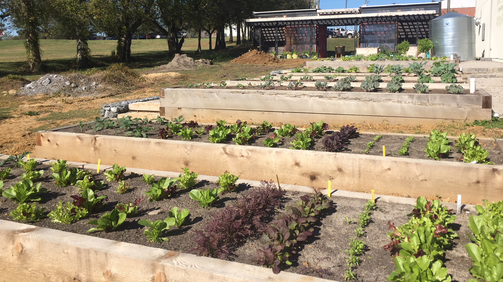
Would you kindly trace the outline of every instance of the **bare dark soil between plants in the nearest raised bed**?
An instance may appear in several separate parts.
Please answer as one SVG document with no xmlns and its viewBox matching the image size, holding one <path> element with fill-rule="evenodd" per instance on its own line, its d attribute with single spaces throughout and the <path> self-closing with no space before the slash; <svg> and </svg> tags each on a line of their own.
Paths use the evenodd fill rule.
<svg viewBox="0 0 503 282">
<path fill-rule="evenodd" d="M 6 166 L 0 167 L 0 170 L 5 169 Z M 44 169 L 44 177 L 41 179 L 42 187 L 49 190 L 48 193 L 42 195 L 42 200 L 37 205 L 44 206 L 46 211 L 55 208 L 59 200 L 71 201 L 69 197 L 72 194 L 77 194 L 78 189 L 74 186 L 58 187 L 54 185 L 54 181 L 50 178 L 49 166 L 39 165 L 38 170 Z M 4 188 L 14 185 L 20 181 L 20 174 L 23 171 L 20 168 L 13 169 L 13 174 L 4 180 Z M 183 251 L 193 253 L 194 248 L 194 232 L 198 229 L 203 229 L 209 222 L 209 214 L 215 212 L 219 208 L 229 205 L 237 197 L 247 194 L 250 188 L 247 185 L 240 185 L 237 192 L 229 192 L 221 195 L 221 199 L 214 204 L 213 207 L 205 209 L 192 200 L 189 195 L 189 189 L 179 190 L 169 199 L 161 201 L 149 202 L 146 200 L 144 192 L 148 190 L 149 186 L 144 184 L 140 179 L 141 176 L 130 175 L 126 173 L 126 183 L 132 189 L 125 194 L 117 193 L 118 183 L 108 183 L 108 187 L 99 191 L 99 195 L 107 195 L 108 200 L 105 205 L 97 212 L 91 214 L 88 218 L 80 220 L 70 225 L 62 225 L 59 223 L 52 223 L 50 219 L 45 218 L 36 226 L 57 229 L 67 232 L 78 234 L 87 234 L 90 236 L 106 238 L 111 240 L 123 241 L 128 243 L 140 244 L 156 248 L 163 248 L 175 251 Z M 95 174 L 96 179 L 103 179 L 103 174 Z M 158 179 L 158 177 L 156 177 Z M 106 182 L 106 181 L 105 181 Z M 200 181 L 196 184 L 197 188 L 216 187 L 216 183 L 209 183 Z M 283 205 L 292 204 L 302 194 L 299 192 L 287 192 Z M 116 231 L 112 232 L 92 232 L 86 233 L 87 230 L 94 227 L 88 225 L 90 220 L 98 219 L 103 213 L 110 212 L 115 204 L 118 202 L 134 201 L 136 198 L 144 198 L 139 206 L 139 214 L 126 219 L 126 222 L 120 226 Z M 319 276 L 333 280 L 344 280 L 343 275 L 346 266 L 347 254 L 344 250 L 349 248 L 349 240 L 354 237 L 354 230 L 357 228 L 356 220 L 353 223 L 347 224 L 346 217 L 350 219 L 357 219 L 358 215 L 364 211 L 364 204 L 366 200 L 348 197 L 333 196 L 333 207 L 326 210 L 324 216 L 320 218 L 314 228 L 314 233 L 308 240 L 301 245 L 300 251 L 293 259 L 293 265 L 284 267 L 284 271 L 295 273 L 302 273 L 312 276 Z M 0 219 L 11 220 L 9 214 L 16 208 L 16 204 L 6 197 L 0 197 Z M 172 227 L 164 236 L 167 236 L 170 241 L 160 244 L 150 243 L 143 235 L 143 226 L 138 224 L 140 219 L 148 219 L 151 221 L 163 220 L 168 217 L 169 210 L 178 206 L 180 209 L 188 208 L 190 210 L 190 218 L 181 228 Z M 149 212 L 160 209 L 160 213 L 156 215 L 149 215 Z M 356 268 L 355 273 L 358 281 L 386 281 L 386 277 L 394 270 L 393 257 L 388 251 L 383 250 L 383 245 L 389 243 L 386 236 L 388 233 L 388 221 L 395 223 L 396 226 L 401 225 L 408 221 L 406 216 L 412 210 L 411 205 L 386 203 L 377 201 L 377 209 L 371 214 L 371 223 L 365 228 L 366 234 L 362 237 L 365 242 L 366 251 L 360 257 L 362 262 Z M 276 215 L 281 214 L 281 209 L 277 210 Z M 452 248 L 446 251 L 444 259 L 449 273 L 452 274 L 453 281 L 466 281 L 472 278 L 468 272 L 471 266 L 464 245 L 469 243 L 467 233 L 468 229 L 468 216 L 466 211 L 456 215 L 457 219 L 451 226 L 458 234 L 459 238 L 454 240 Z M 251 236 L 242 240 L 238 244 L 232 246 L 233 252 L 228 255 L 229 260 L 238 261 L 242 263 L 258 265 L 252 258 L 256 254 L 257 248 L 260 248 L 258 242 L 258 235 Z M 238 271 L 238 269 L 236 269 Z"/>
</svg>

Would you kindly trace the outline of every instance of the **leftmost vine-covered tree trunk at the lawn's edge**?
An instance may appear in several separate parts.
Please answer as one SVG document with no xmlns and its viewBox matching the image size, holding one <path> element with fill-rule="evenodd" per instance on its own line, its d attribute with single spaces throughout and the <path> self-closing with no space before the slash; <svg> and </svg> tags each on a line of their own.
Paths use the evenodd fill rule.
<svg viewBox="0 0 503 282">
<path fill-rule="evenodd" d="M 35 5 L 31 0 L 24 0 L 21 5 L 26 12 L 26 18 L 35 19 Z M 28 55 L 28 69 L 30 72 L 42 71 L 42 58 L 40 56 L 40 42 L 38 40 L 38 22 L 29 20 L 26 23 L 26 42 L 25 48 Z"/>
</svg>

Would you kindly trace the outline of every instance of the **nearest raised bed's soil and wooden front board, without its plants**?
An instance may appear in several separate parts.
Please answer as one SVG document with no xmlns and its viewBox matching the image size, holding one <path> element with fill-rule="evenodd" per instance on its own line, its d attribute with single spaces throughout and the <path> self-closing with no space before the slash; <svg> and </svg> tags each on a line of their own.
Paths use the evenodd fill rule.
<svg viewBox="0 0 503 282">
<path fill-rule="evenodd" d="M 96 169 L 95 165 L 86 167 Z M 49 193 L 42 195 L 42 200 L 37 205 L 52 210 L 58 200 L 71 201 L 69 195 L 78 193 L 76 186 L 64 188 L 55 186 L 52 178 L 47 177 L 48 166 L 37 167 L 37 169 L 41 168 L 46 171 L 46 176 L 41 179 L 41 183 L 49 190 Z M 5 169 L 5 166 L 1 169 Z M 13 169 L 13 176 L 5 180 L 4 188 L 19 181 L 21 173 L 21 169 Z M 142 170 L 137 173 L 157 172 Z M 345 261 L 347 254 L 344 250 L 349 247 L 349 238 L 354 236 L 353 231 L 357 226 L 355 220 L 363 212 L 367 201 L 332 196 L 333 206 L 328 208 L 322 217 L 319 217 L 314 226 L 313 235 L 298 245 L 297 254 L 290 258 L 293 264 L 282 265 L 283 271 L 273 274 L 271 269 L 253 266 L 257 265 L 257 262 L 250 259 L 250 256 L 256 255 L 256 250 L 261 248 L 257 234 L 247 236 L 245 240 L 240 240 L 239 243 L 230 246 L 232 252 L 227 255 L 227 259 L 235 262 L 188 254 L 194 252 L 192 249 L 197 236 L 195 230 L 201 229 L 208 223 L 211 213 L 217 213 L 224 206 L 231 205 L 236 197 L 239 198 L 250 193 L 251 189 L 256 189 L 246 185 L 241 185 L 237 193 L 223 194 L 222 199 L 210 209 L 199 207 L 195 201 L 188 199 L 185 190 L 179 190 L 171 198 L 160 201 L 143 200 L 138 204 L 138 215 L 127 218 L 117 230 L 86 233 L 92 227 L 87 224 L 89 220 L 99 218 L 104 212 L 110 212 L 118 202 L 144 197 L 144 191 L 148 190 L 148 186 L 139 181 L 141 176 L 128 174 L 125 174 L 126 182 L 133 187 L 130 192 L 119 195 L 116 193 L 117 183 L 108 183 L 108 187 L 98 192 L 100 195 L 109 196 L 106 204 L 89 217 L 70 225 L 52 223 L 47 218 L 33 225 L 11 222 L 12 219 L 7 215 L 16 207 L 16 204 L 5 197 L 0 198 L 0 203 L 2 203 L 0 256 L 4 258 L 0 260 L 0 267 L 4 269 L 4 280 L 46 281 L 50 277 L 66 277 L 68 280 L 81 282 L 97 280 L 188 281 L 204 277 L 206 281 L 229 282 L 327 281 L 293 273 L 343 280 L 344 272 L 347 270 Z M 97 180 L 103 178 L 103 174 L 94 174 L 94 176 Z M 202 188 L 215 184 L 201 181 L 196 185 Z M 287 191 L 282 205 L 265 220 L 265 223 L 271 222 L 281 213 L 283 206 L 291 204 L 302 194 Z M 143 227 L 138 224 L 138 221 L 164 219 L 173 206 L 190 210 L 191 215 L 186 224 L 181 228 L 164 232 L 164 236 L 169 237 L 169 242 L 161 244 L 148 242 L 143 235 Z M 152 210 L 159 209 L 159 214 L 148 214 Z M 386 236 L 389 231 L 388 221 L 399 226 L 408 221 L 406 214 L 411 210 L 410 204 L 377 201 L 377 209 L 372 210 L 370 224 L 365 227 L 365 234 L 361 237 L 366 248 L 364 255 L 360 257 L 360 265 L 353 270 L 358 278 L 357 281 L 386 281 L 386 277 L 394 270 L 393 257 L 389 251 L 383 249 L 383 246 L 390 242 Z M 474 210 L 469 207 L 456 215 L 457 219 L 452 228 L 459 237 L 453 241 L 452 247 L 446 251 L 445 256 L 445 267 L 449 269 L 453 281 L 466 281 L 472 277 L 467 271 L 471 266 L 471 261 L 464 249 L 464 244 L 469 242 L 466 234 L 470 232 L 468 229 L 470 214 L 466 212 L 473 214 Z M 345 218 L 351 219 L 350 222 L 353 223 L 348 224 Z"/>
</svg>

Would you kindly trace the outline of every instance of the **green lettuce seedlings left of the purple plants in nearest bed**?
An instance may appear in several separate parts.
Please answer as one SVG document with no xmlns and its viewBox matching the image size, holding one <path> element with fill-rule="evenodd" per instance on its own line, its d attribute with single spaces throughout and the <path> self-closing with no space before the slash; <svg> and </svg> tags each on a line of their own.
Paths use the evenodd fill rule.
<svg viewBox="0 0 503 282">
<path fill-rule="evenodd" d="M 42 183 L 34 185 L 34 182 L 40 180 L 44 174 L 44 170 L 36 170 L 38 162 L 35 159 L 23 161 L 20 156 L 12 157 L 14 167 L 22 167 L 24 173 L 21 174 L 21 181 L 14 186 L 2 191 L 4 197 L 18 203 L 16 209 L 10 214 L 15 220 L 37 222 L 40 219 L 48 216 L 52 222 L 61 224 L 70 224 L 75 221 L 88 217 L 93 212 L 96 212 L 104 201 L 106 195 L 98 195 L 98 191 L 105 188 L 104 181 L 95 179 L 95 175 L 89 170 L 83 168 L 69 168 L 66 161 L 57 160 L 50 163 L 51 177 L 54 179 L 56 186 L 76 186 L 80 194 L 71 195 L 73 201 L 63 203 L 59 201 L 56 208 L 46 215 L 44 207 L 37 207 L 36 203 L 29 204 L 28 202 L 37 202 L 42 199 L 44 193 L 48 192 L 46 188 L 41 187 Z M 4 162 L 5 163 L 5 162 Z M 199 176 L 189 169 L 183 168 L 184 173 L 181 173 L 178 178 L 162 177 L 158 181 L 154 181 L 154 175 L 144 174 L 142 180 L 151 185 L 145 194 L 149 201 L 158 201 L 164 198 L 172 197 L 178 189 L 188 189 L 196 184 L 196 178 Z M 0 171 L 0 189 L 3 188 L 5 180 L 10 176 L 12 168 L 8 167 Z M 129 185 L 125 183 L 124 173 L 125 167 L 120 167 L 114 164 L 111 170 L 105 171 L 104 176 L 108 182 L 117 182 L 117 193 L 122 194 L 129 190 Z M 219 198 L 219 194 L 225 191 L 234 191 L 236 181 L 239 176 L 229 172 L 224 172 L 219 176 L 217 183 L 220 188 L 209 189 L 192 189 L 189 196 L 198 201 L 201 207 L 209 207 Z M 176 183 L 176 185 L 175 185 Z M 105 213 L 99 220 L 90 221 L 89 224 L 96 225 L 88 232 L 93 231 L 111 231 L 116 230 L 127 217 L 132 217 L 138 213 L 138 203 L 141 199 L 136 199 L 134 202 L 118 203 L 110 213 Z M 181 226 L 185 218 L 189 215 L 188 209 L 182 209 L 178 212 L 178 207 L 173 207 L 169 213 L 169 217 L 163 221 L 149 222 L 148 220 L 140 220 L 140 225 L 148 227 L 145 230 L 145 235 L 152 242 L 167 241 L 167 238 L 160 237 L 162 231 L 168 230 L 170 226 Z"/>
</svg>

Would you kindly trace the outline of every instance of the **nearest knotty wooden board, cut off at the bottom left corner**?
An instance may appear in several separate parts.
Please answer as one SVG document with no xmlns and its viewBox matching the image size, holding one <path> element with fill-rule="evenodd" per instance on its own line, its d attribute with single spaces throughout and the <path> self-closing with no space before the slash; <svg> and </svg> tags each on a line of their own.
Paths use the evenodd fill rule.
<svg viewBox="0 0 503 282">
<path fill-rule="evenodd" d="M 5 282 L 331 281 L 4 220 L 0 238 Z"/>
</svg>

